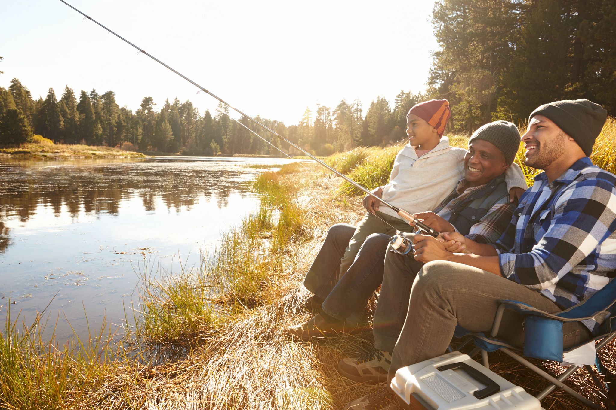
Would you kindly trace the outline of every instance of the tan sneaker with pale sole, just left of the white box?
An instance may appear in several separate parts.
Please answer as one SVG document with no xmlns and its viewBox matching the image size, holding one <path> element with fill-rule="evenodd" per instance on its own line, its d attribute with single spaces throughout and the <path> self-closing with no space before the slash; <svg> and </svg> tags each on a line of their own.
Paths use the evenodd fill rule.
<svg viewBox="0 0 616 410">
<path fill-rule="evenodd" d="M 338 371 L 355 382 L 379 383 L 387 380 L 391 354 L 374 349 L 358 358 L 346 357 L 339 361 Z"/>
</svg>

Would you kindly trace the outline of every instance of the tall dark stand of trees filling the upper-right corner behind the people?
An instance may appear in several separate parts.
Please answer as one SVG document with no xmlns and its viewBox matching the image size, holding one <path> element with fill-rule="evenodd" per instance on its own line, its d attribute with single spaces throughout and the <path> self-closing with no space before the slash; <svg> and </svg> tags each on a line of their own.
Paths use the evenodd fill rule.
<svg viewBox="0 0 616 410">
<path fill-rule="evenodd" d="M 616 109 L 615 0 L 439 0 L 429 93 L 450 130 L 524 120 L 540 104 L 588 98 Z"/>
</svg>

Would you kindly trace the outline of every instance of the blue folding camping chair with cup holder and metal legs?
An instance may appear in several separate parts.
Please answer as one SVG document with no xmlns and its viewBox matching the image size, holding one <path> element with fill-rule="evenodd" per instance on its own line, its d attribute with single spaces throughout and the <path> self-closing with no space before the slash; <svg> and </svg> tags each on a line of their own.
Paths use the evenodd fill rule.
<svg viewBox="0 0 616 410">
<path fill-rule="evenodd" d="M 588 361 L 583 364 L 579 361 L 573 361 L 572 363 L 579 364 L 570 365 L 564 373 L 554 377 L 533 365 L 521 355 L 513 352 L 513 349 L 519 349 L 496 337 L 505 309 L 514 310 L 524 316 L 524 356 L 562 363 L 567 360 L 567 357 L 572 357 L 572 355 L 575 357 L 577 353 L 583 352 L 583 350 L 588 352 L 590 349 L 590 353 L 594 354 L 594 365 L 596 366 L 598 373 L 604 376 L 604 383 L 602 384 L 600 382 L 597 377 L 597 373 Z M 584 342 L 583 344 L 563 350 L 562 325 L 565 321 L 582 321 L 596 317 L 600 314 L 607 315 L 607 317 L 599 327 L 599 331 L 596 336 L 593 336 L 592 339 Z M 470 341 L 474 341 L 476 347 L 471 353 L 469 353 L 469 356 L 474 357 L 474 355 L 481 352 L 483 364 L 487 368 L 489 368 L 487 353 L 495 350 L 501 350 L 509 355 L 509 357 L 519 361 L 522 365 L 548 380 L 551 385 L 546 387 L 543 392 L 535 396 L 538 400 L 542 400 L 545 396 L 551 393 L 554 388 L 559 387 L 577 398 L 577 400 L 582 401 L 582 403 L 591 406 L 592 408 L 599 408 L 597 404 L 594 404 L 592 401 L 572 390 L 572 388 L 564 384 L 563 381 L 567 379 L 570 374 L 580 368 L 580 364 L 582 364 L 606 398 L 608 397 L 608 391 L 611 384 L 615 385 L 615 387 L 612 388 L 612 394 L 614 393 L 614 390 L 616 390 L 616 383 L 612 383 L 614 380 L 614 375 L 601 364 L 601 360 L 599 360 L 599 356 L 597 354 L 599 350 L 601 350 L 612 339 L 614 339 L 614 337 L 616 337 L 616 280 L 612 280 L 612 282 L 604 286 L 604 288 L 593 294 L 590 298 L 586 299 L 586 301 L 559 313 L 542 312 L 541 310 L 537 310 L 532 306 L 518 301 L 501 301 L 498 310 L 496 310 L 496 316 L 494 318 L 490 336 L 486 336 L 484 333 L 469 333 L 463 328 L 460 328 L 460 326 L 456 328 L 455 336 L 471 336 L 471 338 L 464 342 L 463 345 L 466 345 Z M 461 347 L 462 346 L 458 347 L 458 349 Z M 608 408 L 614 408 L 613 403 L 611 406 L 608 405 Z"/>
</svg>

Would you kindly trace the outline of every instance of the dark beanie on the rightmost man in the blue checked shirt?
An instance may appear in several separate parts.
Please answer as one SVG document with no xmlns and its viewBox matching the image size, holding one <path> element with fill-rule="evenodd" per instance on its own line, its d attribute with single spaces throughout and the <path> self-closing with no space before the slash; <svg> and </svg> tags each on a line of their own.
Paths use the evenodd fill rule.
<svg viewBox="0 0 616 410">
<path fill-rule="evenodd" d="M 580 98 L 543 104 L 530 114 L 529 120 L 534 116 L 545 116 L 553 120 L 554 124 L 578 143 L 586 156 L 590 156 L 594 140 L 606 123 L 607 111 L 599 104 Z"/>
</svg>

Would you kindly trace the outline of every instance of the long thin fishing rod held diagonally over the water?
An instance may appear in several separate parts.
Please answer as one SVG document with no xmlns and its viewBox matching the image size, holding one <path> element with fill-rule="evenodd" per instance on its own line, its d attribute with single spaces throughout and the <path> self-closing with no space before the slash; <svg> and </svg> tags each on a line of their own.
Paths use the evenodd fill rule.
<svg viewBox="0 0 616 410">
<path fill-rule="evenodd" d="M 341 178 L 343 178 L 345 181 L 347 181 L 349 184 L 351 184 L 352 186 L 356 187 L 357 189 L 360 189 L 361 191 L 365 192 L 366 194 L 370 195 L 371 197 L 373 197 L 374 199 L 378 200 L 379 202 L 383 203 L 383 205 L 385 205 L 387 208 L 390 208 L 391 210 L 393 210 L 395 213 L 397 213 L 400 218 L 404 219 L 405 221 L 408 222 L 408 224 L 410 224 L 411 226 L 416 226 L 419 229 L 421 229 L 422 231 L 426 232 L 426 234 L 431 235 L 433 237 L 439 237 L 440 233 L 435 231 L 434 229 L 432 229 L 431 227 L 429 227 L 428 225 L 424 224 L 423 222 L 419 221 L 418 218 L 415 218 L 415 216 L 413 216 L 411 213 L 400 209 L 398 207 L 395 207 L 394 205 L 392 205 L 391 203 L 387 202 L 386 200 L 384 200 L 383 198 L 379 197 L 378 195 L 373 194 L 372 192 L 368 191 L 368 189 L 365 189 L 365 187 L 361 186 L 360 184 L 356 183 L 355 181 L 353 181 L 351 178 L 348 178 L 346 175 L 342 174 L 341 172 L 335 170 L 334 168 L 330 167 L 330 165 L 325 164 L 325 162 L 323 162 L 322 160 L 318 159 L 317 157 L 313 156 L 312 154 L 310 154 L 310 152 L 305 151 L 302 148 L 299 148 L 299 146 L 297 146 L 296 144 L 292 143 L 291 141 L 287 140 L 285 137 L 283 137 L 282 135 L 280 135 L 279 133 L 275 132 L 274 130 L 270 129 L 269 127 L 265 126 L 264 124 L 261 124 L 261 122 L 257 121 L 256 119 L 254 119 L 253 117 L 249 116 L 248 114 L 245 114 L 245 112 L 240 111 L 239 109 L 235 108 L 234 106 L 232 106 L 231 104 L 227 103 L 227 101 L 223 100 L 222 98 L 218 97 L 217 95 L 215 95 L 212 92 L 209 92 L 208 90 L 205 89 L 205 87 L 201 87 L 201 85 L 197 84 L 196 82 L 192 81 L 190 78 L 188 78 L 187 76 L 185 76 L 184 74 L 180 73 L 179 71 L 176 71 L 175 69 L 171 68 L 170 66 L 166 65 L 165 63 L 163 63 L 163 61 L 158 60 L 158 58 L 154 57 L 152 54 L 146 52 L 145 50 L 141 49 L 140 47 L 137 47 L 137 45 L 132 44 L 132 42 L 128 41 L 127 39 L 125 39 L 124 37 L 120 36 L 120 34 L 115 33 L 115 31 L 110 30 L 109 28 L 107 28 L 106 26 L 102 25 L 101 23 L 97 22 L 96 20 L 94 20 L 94 18 L 90 17 L 89 15 L 85 14 L 84 12 L 82 12 L 79 9 L 76 9 L 75 7 L 71 6 L 70 4 L 68 4 L 66 1 L 64 0 L 60 0 L 61 2 L 63 2 L 64 4 L 66 4 L 68 7 L 70 7 L 71 9 L 75 10 L 76 12 L 78 12 L 79 14 L 83 15 L 84 18 L 87 18 L 88 20 L 91 20 L 92 22 L 96 23 L 97 25 L 101 26 L 102 28 L 104 28 L 105 30 L 107 30 L 109 33 L 113 34 L 114 36 L 118 37 L 119 39 L 121 39 L 122 41 L 132 45 L 132 47 L 134 47 L 135 49 L 139 50 L 140 53 L 143 53 L 145 55 L 147 55 L 148 57 L 152 58 L 152 60 L 156 61 L 156 63 L 159 63 L 160 65 L 164 66 L 165 68 L 168 68 L 169 70 L 173 71 L 174 73 L 176 73 L 178 76 L 182 77 L 183 79 L 185 79 L 186 81 L 190 82 L 190 84 L 194 85 L 195 87 L 197 87 L 198 89 L 200 89 L 203 92 L 208 93 L 209 95 L 211 95 L 212 97 L 216 98 L 216 100 L 221 101 L 221 103 L 225 104 L 227 107 L 233 109 L 233 111 L 238 112 L 239 114 L 241 114 L 242 116 L 248 118 L 249 120 L 251 120 L 252 122 L 254 122 L 254 124 L 259 125 L 259 127 L 263 128 L 265 131 L 268 131 L 272 134 L 274 134 L 278 139 L 285 141 L 286 143 L 290 144 L 293 148 L 297 149 L 300 152 L 303 152 L 304 154 L 306 154 L 307 156 L 309 156 L 310 158 L 314 159 L 315 161 L 318 162 L 318 164 L 323 165 L 323 167 L 327 168 L 328 170 L 332 171 L 333 173 L 335 173 L 336 175 L 340 176 Z"/>
</svg>

